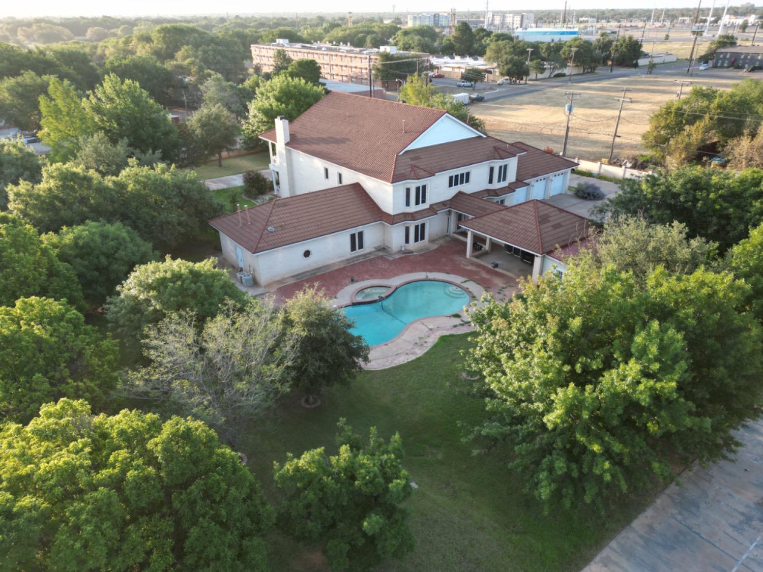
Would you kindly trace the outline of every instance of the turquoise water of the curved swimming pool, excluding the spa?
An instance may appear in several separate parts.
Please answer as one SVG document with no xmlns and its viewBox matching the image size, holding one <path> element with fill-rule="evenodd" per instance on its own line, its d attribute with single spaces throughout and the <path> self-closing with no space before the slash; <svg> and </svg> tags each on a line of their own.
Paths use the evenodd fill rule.
<svg viewBox="0 0 763 572">
<path fill-rule="evenodd" d="M 460 313 L 469 303 L 463 288 L 436 280 L 409 282 L 390 297 L 372 304 L 355 304 L 342 310 L 355 322 L 353 333 L 369 345 L 388 342 L 414 320 Z"/>
</svg>

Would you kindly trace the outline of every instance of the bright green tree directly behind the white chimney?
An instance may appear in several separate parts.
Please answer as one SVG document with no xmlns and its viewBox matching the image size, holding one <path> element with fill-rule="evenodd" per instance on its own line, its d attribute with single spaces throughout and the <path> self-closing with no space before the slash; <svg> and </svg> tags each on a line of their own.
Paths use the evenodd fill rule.
<svg viewBox="0 0 763 572">
<path fill-rule="evenodd" d="M 278 76 L 261 85 L 249 103 L 249 116 L 243 122 L 244 142 L 253 147 L 259 144 L 259 133 L 272 129 L 275 118 L 283 115 L 294 121 L 314 103 L 324 97 L 324 88 L 301 78 Z"/>
</svg>

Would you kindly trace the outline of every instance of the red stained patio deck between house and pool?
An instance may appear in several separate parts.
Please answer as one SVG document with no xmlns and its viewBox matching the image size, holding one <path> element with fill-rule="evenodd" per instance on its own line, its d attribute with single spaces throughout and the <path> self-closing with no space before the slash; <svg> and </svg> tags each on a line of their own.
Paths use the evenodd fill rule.
<svg viewBox="0 0 763 572">
<path fill-rule="evenodd" d="M 512 296 L 517 288 L 517 281 L 510 276 L 467 259 L 466 243 L 451 238 L 426 252 L 396 255 L 394 258 L 380 253 L 371 259 L 285 284 L 277 288 L 274 294 L 276 302 L 281 303 L 304 288 L 306 284 L 318 284 L 326 291 L 327 296 L 334 297 L 337 292 L 350 284 L 351 276 L 359 282 L 375 278 L 393 278 L 409 272 L 449 272 L 477 282 L 486 291 L 492 292 L 501 299 Z"/>
</svg>

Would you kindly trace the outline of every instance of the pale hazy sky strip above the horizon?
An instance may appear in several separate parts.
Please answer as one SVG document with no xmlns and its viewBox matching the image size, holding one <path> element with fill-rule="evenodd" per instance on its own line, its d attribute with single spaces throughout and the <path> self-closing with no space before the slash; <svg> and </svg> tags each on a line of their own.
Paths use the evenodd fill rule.
<svg viewBox="0 0 763 572">
<path fill-rule="evenodd" d="M 441 0 L 443 2 L 443 0 Z M 483 0 L 484 2 L 484 0 Z M 709 9 L 713 0 L 702 0 L 703 8 Z M 214 7 L 214 12 L 230 14 L 250 14 L 253 12 L 272 10 L 274 5 L 278 6 L 278 11 L 290 12 L 311 12 L 320 6 L 320 10 L 328 11 L 348 11 L 353 10 L 357 13 L 365 11 L 391 11 L 392 5 L 395 5 L 395 11 L 398 13 L 420 12 L 420 11 L 448 11 L 455 6 L 459 11 L 471 8 L 473 11 L 484 10 L 484 4 L 481 2 L 469 2 L 462 4 L 459 2 L 438 3 L 433 0 L 385 0 L 385 2 L 357 2 L 357 0 L 324 0 L 323 2 L 308 2 L 308 0 L 280 0 L 276 3 L 252 2 L 251 0 L 227 0 L 227 2 L 202 2 L 201 0 L 129 0 L 128 2 L 103 2 L 102 0 L 28 0 L 27 2 L 18 2 L 14 0 L 4 0 L 0 5 L 0 16 L 95 16 L 101 14 L 109 15 L 173 15 L 173 14 L 209 14 L 210 8 Z M 495 0 L 491 2 L 491 9 L 508 11 L 530 11 L 528 2 L 519 2 L 519 0 Z M 584 0 L 584 2 L 570 2 L 572 9 L 575 8 L 611 8 L 611 0 Z M 578 4 L 577 6 L 575 4 Z M 620 3 L 618 3 L 620 4 Z M 723 9 L 724 0 L 716 0 L 716 7 Z M 741 5 L 740 0 L 732 2 L 732 5 Z M 755 2 L 760 5 L 760 2 Z M 562 10 L 564 0 L 536 0 L 532 6 L 536 10 L 558 8 Z M 685 8 L 696 6 L 696 0 L 627 0 L 618 5 L 617 8 L 652 8 L 657 6 L 662 8 Z"/>
</svg>

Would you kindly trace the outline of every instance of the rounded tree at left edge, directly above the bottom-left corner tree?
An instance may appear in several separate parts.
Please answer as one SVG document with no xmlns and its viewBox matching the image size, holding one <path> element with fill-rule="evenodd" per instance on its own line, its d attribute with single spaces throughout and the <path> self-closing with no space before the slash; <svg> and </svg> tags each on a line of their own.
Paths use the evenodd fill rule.
<svg viewBox="0 0 763 572">
<path fill-rule="evenodd" d="M 25 422 L 61 397 L 105 403 L 116 385 L 117 345 L 77 310 L 50 298 L 0 307 L 0 416 Z"/>
</svg>

